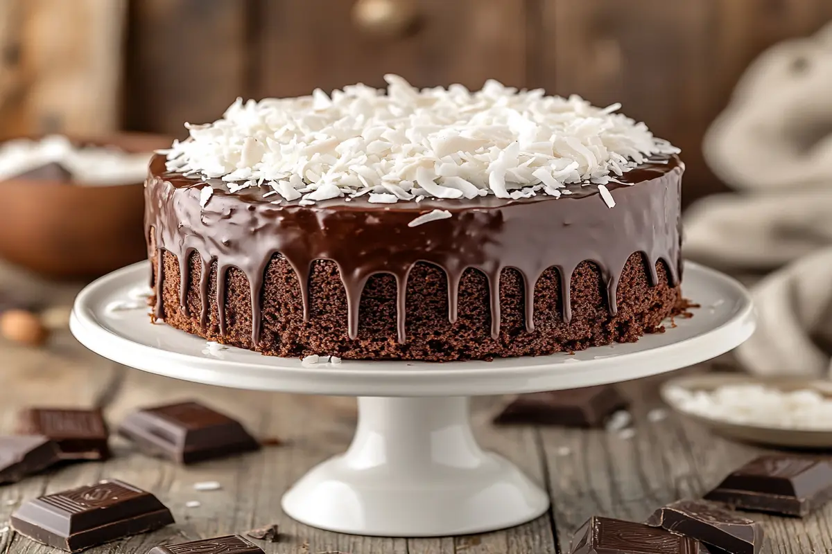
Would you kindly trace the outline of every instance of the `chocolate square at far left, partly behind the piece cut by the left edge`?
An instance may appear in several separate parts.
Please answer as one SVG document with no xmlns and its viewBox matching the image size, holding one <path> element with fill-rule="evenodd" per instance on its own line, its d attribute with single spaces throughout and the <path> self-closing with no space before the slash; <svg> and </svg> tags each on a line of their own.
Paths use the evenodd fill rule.
<svg viewBox="0 0 832 554">
<path fill-rule="evenodd" d="M 54 440 L 64 460 L 110 458 L 110 433 L 100 409 L 27 409 L 21 414 L 20 431 Z"/>
</svg>

